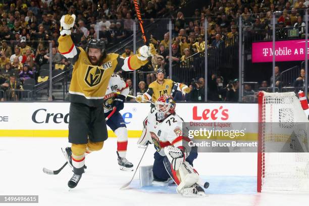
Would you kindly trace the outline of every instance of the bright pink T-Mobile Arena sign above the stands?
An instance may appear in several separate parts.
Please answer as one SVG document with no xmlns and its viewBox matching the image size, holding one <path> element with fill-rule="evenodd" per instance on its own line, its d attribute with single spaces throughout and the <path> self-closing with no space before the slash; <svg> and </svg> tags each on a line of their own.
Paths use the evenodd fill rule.
<svg viewBox="0 0 309 206">
<path fill-rule="evenodd" d="M 303 61 L 305 60 L 305 40 L 276 41 L 275 61 Z M 309 56 L 308 56 L 309 57 Z M 273 42 L 253 42 L 252 43 L 252 63 L 272 62 Z"/>
</svg>

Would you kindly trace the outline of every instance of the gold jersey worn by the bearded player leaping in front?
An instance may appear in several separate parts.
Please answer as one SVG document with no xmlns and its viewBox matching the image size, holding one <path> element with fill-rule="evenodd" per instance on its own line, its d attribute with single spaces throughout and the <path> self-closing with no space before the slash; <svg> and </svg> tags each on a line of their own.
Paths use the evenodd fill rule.
<svg viewBox="0 0 309 206">
<path fill-rule="evenodd" d="M 118 54 L 107 54 L 101 66 L 91 65 L 85 50 L 75 47 L 71 36 L 60 36 L 59 52 L 73 64 L 73 74 L 69 89 L 70 101 L 89 107 L 102 107 L 109 80 L 119 70 L 132 71 L 147 63 L 136 55 L 123 58 Z"/>
</svg>

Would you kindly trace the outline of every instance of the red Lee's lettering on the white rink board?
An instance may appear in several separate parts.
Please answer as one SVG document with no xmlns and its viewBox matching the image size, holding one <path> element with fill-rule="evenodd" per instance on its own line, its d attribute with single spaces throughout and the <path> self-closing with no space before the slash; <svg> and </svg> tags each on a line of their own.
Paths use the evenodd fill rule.
<svg viewBox="0 0 309 206">
<path fill-rule="evenodd" d="M 200 112 L 197 111 L 197 106 L 193 107 L 193 120 L 228 120 L 229 119 L 229 110 L 223 109 L 220 106 L 218 109 L 204 109 Z"/>
</svg>

